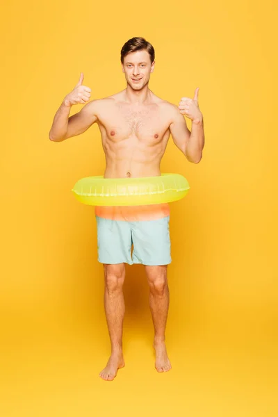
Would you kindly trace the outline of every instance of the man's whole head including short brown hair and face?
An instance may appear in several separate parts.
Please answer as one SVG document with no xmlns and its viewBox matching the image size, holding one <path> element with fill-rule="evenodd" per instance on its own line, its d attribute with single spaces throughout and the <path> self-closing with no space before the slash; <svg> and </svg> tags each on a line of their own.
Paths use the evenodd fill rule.
<svg viewBox="0 0 278 417">
<path fill-rule="evenodd" d="M 131 38 L 122 47 L 121 63 L 126 82 L 133 90 L 141 90 L 154 72 L 154 47 L 144 38 Z"/>
</svg>

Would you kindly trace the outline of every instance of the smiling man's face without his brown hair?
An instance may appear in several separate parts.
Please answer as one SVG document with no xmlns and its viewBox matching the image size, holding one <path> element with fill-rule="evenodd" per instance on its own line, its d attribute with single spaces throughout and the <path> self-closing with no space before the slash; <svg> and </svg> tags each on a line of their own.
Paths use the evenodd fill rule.
<svg viewBox="0 0 278 417">
<path fill-rule="evenodd" d="M 126 76 L 126 82 L 133 90 L 142 90 L 149 82 L 153 71 L 154 63 L 151 63 L 149 52 L 145 49 L 131 52 L 124 57 L 122 72 Z"/>
</svg>

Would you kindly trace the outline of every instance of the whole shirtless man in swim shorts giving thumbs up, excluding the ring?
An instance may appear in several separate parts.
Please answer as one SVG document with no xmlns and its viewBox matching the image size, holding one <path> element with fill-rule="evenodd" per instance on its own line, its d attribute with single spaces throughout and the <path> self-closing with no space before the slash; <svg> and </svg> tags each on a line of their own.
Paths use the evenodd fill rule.
<svg viewBox="0 0 278 417">
<path fill-rule="evenodd" d="M 49 139 L 61 142 L 85 132 L 97 123 L 106 156 L 105 178 L 152 177 L 161 175 L 160 163 L 170 134 L 175 145 L 191 163 L 199 163 L 204 147 L 203 116 L 198 90 L 193 99 L 183 97 L 179 106 L 149 90 L 154 72 L 154 48 L 144 38 L 128 40 L 121 50 L 126 88 L 104 99 L 90 100 L 90 88 L 83 85 L 83 73 L 74 90 L 65 96 L 54 117 Z M 86 101 L 89 101 L 86 104 Z M 69 117 L 74 104 L 85 104 Z M 186 115 L 192 120 L 188 130 Z M 149 306 L 154 324 L 155 367 L 171 369 L 165 346 L 169 308 L 167 265 L 171 262 L 169 205 L 95 207 L 98 261 L 104 265 L 104 307 L 111 340 L 111 356 L 99 373 L 111 381 L 124 366 L 122 328 L 125 263 L 145 265 L 149 283 Z M 131 258 L 131 245 L 133 254 Z"/>
</svg>

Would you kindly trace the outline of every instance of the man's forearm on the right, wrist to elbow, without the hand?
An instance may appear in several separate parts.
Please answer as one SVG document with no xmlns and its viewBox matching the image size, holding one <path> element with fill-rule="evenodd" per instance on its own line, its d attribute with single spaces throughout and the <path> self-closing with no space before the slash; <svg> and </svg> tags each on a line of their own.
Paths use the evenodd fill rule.
<svg viewBox="0 0 278 417">
<path fill-rule="evenodd" d="M 193 163 L 199 163 L 202 159 L 204 148 L 204 120 L 199 117 L 192 121 L 190 138 L 186 144 L 186 158 Z"/>
</svg>

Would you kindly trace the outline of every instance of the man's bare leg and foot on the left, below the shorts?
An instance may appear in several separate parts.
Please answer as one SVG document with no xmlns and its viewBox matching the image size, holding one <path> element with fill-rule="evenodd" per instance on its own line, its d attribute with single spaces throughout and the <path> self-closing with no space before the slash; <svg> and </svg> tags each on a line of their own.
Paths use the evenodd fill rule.
<svg viewBox="0 0 278 417">
<path fill-rule="evenodd" d="M 111 340 L 111 357 L 99 376 L 112 381 L 117 375 L 118 368 L 124 367 L 122 354 L 122 327 L 124 321 L 124 294 L 123 284 L 125 278 L 124 263 L 104 264 L 104 308 L 108 332 Z"/>
</svg>

